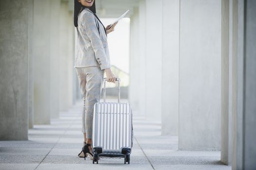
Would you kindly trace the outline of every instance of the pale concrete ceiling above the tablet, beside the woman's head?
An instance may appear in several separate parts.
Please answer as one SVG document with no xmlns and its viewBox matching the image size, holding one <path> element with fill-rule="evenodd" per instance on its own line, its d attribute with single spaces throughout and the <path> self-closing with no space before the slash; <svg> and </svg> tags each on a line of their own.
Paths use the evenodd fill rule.
<svg viewBox="0 0 256 170">
<path fill-rule="evenodd" d="M 98 17 L 119 17 L 130 9 L 125 17 L 133 15 L 134 7 L 138 7 L 139 0 L 96 0 Z"/>
</svg>

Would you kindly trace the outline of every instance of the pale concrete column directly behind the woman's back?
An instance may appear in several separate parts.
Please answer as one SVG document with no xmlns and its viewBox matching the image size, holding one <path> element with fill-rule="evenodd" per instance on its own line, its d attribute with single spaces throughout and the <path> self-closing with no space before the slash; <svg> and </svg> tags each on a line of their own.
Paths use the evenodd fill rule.
<svg viewBox="0 0 256 170">
<path fill-rule="evenodd" d="M 60 3 L 59 20 L 59 110 L 73 105 L 74 24 L 69 1 Z"/>
</svg>

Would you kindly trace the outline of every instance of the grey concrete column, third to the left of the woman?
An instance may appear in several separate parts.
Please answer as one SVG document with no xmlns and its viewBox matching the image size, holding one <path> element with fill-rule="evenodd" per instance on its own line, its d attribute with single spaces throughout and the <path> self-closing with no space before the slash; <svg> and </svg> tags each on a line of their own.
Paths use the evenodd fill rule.
<svg viewBox="0 0 256 170">
<path fill-rule="evenodd" d="M 50 124 L 51 0 L 34 0 L 34 123 Z"/>
</svg>

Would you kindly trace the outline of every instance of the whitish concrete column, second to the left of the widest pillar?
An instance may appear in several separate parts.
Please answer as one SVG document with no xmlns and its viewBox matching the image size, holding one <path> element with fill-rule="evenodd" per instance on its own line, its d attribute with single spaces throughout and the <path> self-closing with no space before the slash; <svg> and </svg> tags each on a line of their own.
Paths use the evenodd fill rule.
<svg viewBox="0 0 256 170">
<path fill-rule="evenodd" d="M 162 0 L 146 0 L 146 119 L 161 122 Z"/>
</svg>

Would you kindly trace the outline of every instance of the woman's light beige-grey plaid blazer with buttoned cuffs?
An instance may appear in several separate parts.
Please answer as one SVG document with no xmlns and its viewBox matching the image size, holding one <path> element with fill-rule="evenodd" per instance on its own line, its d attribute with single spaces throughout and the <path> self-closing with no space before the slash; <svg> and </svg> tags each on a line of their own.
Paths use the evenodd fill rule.
<svg viewBox="0 0 256 170">
<path fill-rule="evenodd" d="M 78 16 L 75 68 L 97 66 L 110 68 L 105 27 L 88 8 Z"/>
</svg>

